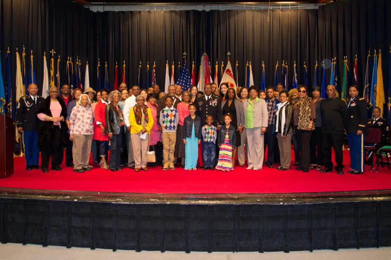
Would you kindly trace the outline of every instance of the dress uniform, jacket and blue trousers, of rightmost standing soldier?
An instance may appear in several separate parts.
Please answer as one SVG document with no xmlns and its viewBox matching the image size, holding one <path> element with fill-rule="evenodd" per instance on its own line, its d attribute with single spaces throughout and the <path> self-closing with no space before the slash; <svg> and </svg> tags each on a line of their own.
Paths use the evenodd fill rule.
<svg viewBox="0 0 391 260">
<path fill-rule="evenodd" d="M 362 130 L 363 134 L 357 134 L 358 130 Z M 364 142 L 368 132 L 367 102 L 364 98 L 356 96 L 348 103 L 348 124 L 346 133 L 348 135 L 352 169 L 358 172 L 365 172 Z"/>
</svg>

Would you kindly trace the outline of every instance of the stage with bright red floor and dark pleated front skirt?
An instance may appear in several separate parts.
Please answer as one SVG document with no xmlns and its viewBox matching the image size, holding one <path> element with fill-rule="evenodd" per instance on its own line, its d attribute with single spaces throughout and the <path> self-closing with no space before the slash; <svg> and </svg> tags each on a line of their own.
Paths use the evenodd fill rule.
<svg viewBox="0 0 391 260">
<path fill-rule="evenodd" d="M 313 251 L 391 246 L 391 172 L 295 170 L 74 173 L 0 180 L 1 243 L 139 251 Z"/>
</svg>

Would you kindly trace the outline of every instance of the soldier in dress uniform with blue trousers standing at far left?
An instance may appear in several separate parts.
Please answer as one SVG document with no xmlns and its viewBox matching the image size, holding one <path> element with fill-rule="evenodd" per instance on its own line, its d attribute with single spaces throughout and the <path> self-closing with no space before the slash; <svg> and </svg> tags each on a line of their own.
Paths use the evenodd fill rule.
<svg viewBox="0 0 391 260">
<path fill-rule="evenodd" d="M 38 166 L 39 148 L 38 142 L 38 118 L 36 108 L 44 99 L 37 95 L 38 87 L 35 84 L 28 85 L 28 95 L 19 99 L 16 109 L 16 127 L 22 134 L 24 146 L 24 158 L 26 170 L 40 169 Z"/>
</svg>

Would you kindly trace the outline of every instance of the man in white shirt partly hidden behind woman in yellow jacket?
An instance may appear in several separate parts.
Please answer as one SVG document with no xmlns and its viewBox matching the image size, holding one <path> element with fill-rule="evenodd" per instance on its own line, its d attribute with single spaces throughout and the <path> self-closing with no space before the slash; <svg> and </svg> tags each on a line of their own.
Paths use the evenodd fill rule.
<svg viewBox="0 0 391 260">
<path fill-rule="evenodd" d="M 131 88 L 131 92 L 132 95 L 129 95 L 129 98 L 127 98 L 123 104 L 122 113 L 123 113 L 123 121 L 126 125 L 126 143 L 127 143 L 126 146 L 128 150 L 128 167 L 131 169 L 135 169 L 132 140 L 130 139 L 129 113 L 130 110 L 133 109 L 133 107 L 137 104 L 136 97 L 140 94 L 140 87 L 134 85 Z"/>
</svg>

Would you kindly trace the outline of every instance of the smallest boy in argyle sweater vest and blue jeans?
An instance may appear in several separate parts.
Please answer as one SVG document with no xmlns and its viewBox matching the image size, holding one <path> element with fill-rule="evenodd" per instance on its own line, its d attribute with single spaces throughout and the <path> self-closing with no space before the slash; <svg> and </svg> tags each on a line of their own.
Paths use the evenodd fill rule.
<svg viewBox="0 0 391 260">
<path fill-rule="evenodd" d="M 202 127 L 202 163 L 204 170 L 215 169 L 217 129 L 213 126 L 213 117 L 206 117 L 206 125 Z"/>
</svg>

